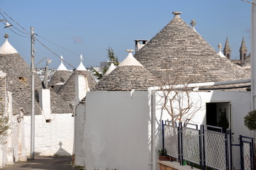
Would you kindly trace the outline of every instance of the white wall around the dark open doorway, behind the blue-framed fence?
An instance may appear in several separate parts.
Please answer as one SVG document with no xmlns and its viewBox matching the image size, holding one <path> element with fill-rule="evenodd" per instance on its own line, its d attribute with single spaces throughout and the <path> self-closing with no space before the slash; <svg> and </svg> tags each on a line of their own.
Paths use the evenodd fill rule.
<svg viewBox="0 0 256 170">
<path fill-rule="evenodd" d="M 156 134 L 157 148 L 162 148 L 161 120 L 171 120 L 166 111 L 162 110 L 162 91 L 157 91 L 156 98 Z M 189 123 L 206 125 L 206 103 L 208 102 L 230 102 L 231 130 L 234 132 L 233 143 L 239 143 L 239 135 L 252 137 L 252 133 L 244 125 L 244 117 L 250 111 L 250 92 L 247 91 L 208 91 L 191 92 L 190 96 L 196 108 L 201 107 L 196 112 L 194 118 Z M 233 163 L 236 168 L 240 168 L 240 152 L 233 147 Z"/>
</svg>

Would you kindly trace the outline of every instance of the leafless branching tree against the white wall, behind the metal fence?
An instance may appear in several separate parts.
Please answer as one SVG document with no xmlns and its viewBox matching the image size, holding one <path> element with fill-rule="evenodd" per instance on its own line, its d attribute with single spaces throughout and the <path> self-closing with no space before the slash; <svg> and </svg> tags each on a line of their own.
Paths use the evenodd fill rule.
<svg viewBox="0 0 256 170">
<path fill-rule="evenodd" d="M 187 125 L 196 112 L 201 109 L 201 97 L 198 95 L 196 97 L 198 99 L 191 98 L 192 89 L 189 88 L 189 84 L 192 77 L 190 79 L 187 77 L 171 79 L 168 75 L 160 83 L 161 93 L 158 94 L 163 99 L 160 105 L 169 113 L 171 121 Z"/>
</svg>

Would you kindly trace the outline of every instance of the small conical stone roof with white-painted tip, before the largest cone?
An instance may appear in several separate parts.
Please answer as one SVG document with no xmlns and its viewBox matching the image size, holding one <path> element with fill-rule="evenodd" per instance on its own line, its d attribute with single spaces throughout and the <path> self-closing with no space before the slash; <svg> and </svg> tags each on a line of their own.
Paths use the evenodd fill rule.
<svg viewBox="0 0 256 170">
<path fill-rule="evenodd" d="M 140 64 L 131 52 L 116 69 L 104 75 L 96 84 L 95 91 L 131 91 L 157 86 L 157 80 Z"/>
</svg>

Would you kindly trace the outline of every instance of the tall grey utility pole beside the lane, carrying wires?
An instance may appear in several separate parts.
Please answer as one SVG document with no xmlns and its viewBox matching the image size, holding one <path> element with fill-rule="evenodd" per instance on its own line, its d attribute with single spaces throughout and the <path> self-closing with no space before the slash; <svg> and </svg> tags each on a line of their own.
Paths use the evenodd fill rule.
<svg viewBox="0 0 256 170">
<path fill-rule="evenodd" d="M 30 124 L 30 159 L 34 159 L 35 156 L 35 69 L 34 69 L 34 59 L 35 59 L 35 38 L 34 38 L 34 28 L 30 27 L 30 37 L 31 37 L 31 124 Z"/>
</svg>

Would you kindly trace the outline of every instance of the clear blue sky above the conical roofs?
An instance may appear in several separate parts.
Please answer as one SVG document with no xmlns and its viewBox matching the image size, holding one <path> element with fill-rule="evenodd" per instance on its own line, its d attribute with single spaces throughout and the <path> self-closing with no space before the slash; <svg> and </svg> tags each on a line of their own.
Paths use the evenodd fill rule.
<svg viewBox="0 0 256 170">
<path fill-rule="evenodd" d="M 250 52 L 251 4 L 242 0 L 0 0 L 0 8 L 15 27 L 13 33 L 1 22 L 0 45 L 8 33 L 11 45 L 30 64 L 33 26 L 40 41 L 35 41 L 37 67 L 45 67 L 46 60 L 40 60 L 46 57 L 52 60 L 49 67 L 57 68 L 60 55 L 68 69 L 79 65 L 79 55 L 85 67 L 96 67 L 108 60 L 108 47 L 121 62 L 126 49 L 135 49 L 134 40 L 150 40 L 172 21 L 172 11 L 182 11 L 187 24 L 196 20 L 196 31 L 217 52 L 218 43 L 223 50 L 228 37 L 231 58 L 239 59 L 243 36 Z"/>
</svg>

